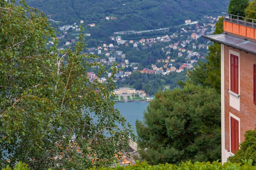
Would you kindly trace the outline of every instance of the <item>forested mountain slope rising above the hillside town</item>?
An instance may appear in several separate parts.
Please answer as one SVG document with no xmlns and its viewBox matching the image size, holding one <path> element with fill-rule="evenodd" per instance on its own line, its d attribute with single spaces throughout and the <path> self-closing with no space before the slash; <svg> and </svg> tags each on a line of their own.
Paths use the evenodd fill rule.
<svg viewBox="0 0 256 170">
<path fill-rule="evenodd" d="M 229 0 L 27 0 L 29 6 L 52 15 L 53 20 L 73 24 L 84 20 L 109 32 L 146 30 L 200 20 L 203 15 L 226 12 Z M 58 14 L 58 15 L 55 15 Z M 116 17 L 106 20 L 106 16 Z"/>
</svg>

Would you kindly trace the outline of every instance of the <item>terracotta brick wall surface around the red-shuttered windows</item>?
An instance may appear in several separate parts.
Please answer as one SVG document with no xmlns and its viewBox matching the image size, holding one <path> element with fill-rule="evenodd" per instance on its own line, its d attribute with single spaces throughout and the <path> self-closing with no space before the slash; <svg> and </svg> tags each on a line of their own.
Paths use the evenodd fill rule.
<svg viewBox="0 0 256 170">
<path fill-rule="evenodd" d="M 240 53 L 240 111 L 229 106 L 229 50 Z M 253 130 L 256 124 L 256 105 L 253 102 L 253 65 L 256 56 L 225 46 L 225 148 L 229 148 L 229 112 L 240 118 L 240 141 L 245 131 Z"/>
</svg>

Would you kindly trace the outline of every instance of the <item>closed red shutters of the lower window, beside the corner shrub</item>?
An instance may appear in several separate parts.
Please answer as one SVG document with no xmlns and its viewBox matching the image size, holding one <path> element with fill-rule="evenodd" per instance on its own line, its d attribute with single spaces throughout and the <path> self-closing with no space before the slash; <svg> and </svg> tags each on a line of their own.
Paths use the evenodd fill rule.
<svg viewBox="0 0 256 170">
<path fill-rule="evenodd" d="M 236 153 L 239 149 L 239 127 L 238 120 L 230 117 L 230 130 L 231 130 L 231 152 Z"/>
</svg>

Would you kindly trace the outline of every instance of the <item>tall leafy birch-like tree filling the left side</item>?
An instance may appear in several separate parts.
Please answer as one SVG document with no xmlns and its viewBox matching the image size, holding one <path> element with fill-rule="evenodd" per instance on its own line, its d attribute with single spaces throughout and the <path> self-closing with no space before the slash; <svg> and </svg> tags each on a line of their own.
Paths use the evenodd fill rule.
<svg viewBox="0 0 256 170">
<path fill-rule="evenodd" d="M 74 51 L 47 50 L 55 37 L 47 17 L 14 3 L 0 0 L 0 169 L 18 161 L 31 169 L 112 163 L 130 131 L 110 100 L 112 77 L 101 84 L 86 74 L 108 70 L 81 54 L 82 34 Z"/>
</svg>

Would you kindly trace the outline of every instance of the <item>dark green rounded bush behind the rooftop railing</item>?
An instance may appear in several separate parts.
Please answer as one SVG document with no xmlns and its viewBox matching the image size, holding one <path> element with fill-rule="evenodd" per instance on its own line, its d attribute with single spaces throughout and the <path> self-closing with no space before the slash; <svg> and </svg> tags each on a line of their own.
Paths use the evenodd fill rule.
<svg viewBox="0 0 256 170">
<path fill-rule="evenodd" d="M 249 5 L 249 0 L 230 0 L 227 13 L 245 17 L 245 9 Z"/>
</svg>

